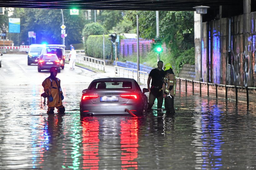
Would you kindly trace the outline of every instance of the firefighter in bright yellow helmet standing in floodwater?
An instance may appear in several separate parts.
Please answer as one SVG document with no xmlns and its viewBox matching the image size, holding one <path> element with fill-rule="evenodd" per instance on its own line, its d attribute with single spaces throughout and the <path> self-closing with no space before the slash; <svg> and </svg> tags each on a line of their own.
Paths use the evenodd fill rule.
<svg viewBox="0 0 256 170">
<path fill-rule="evenodd" d="M 165 64 L 165 78 L 163 85 L 163 92 L 165 98 L 165 110 L 166 114 L 175 114 L 174 109 L 174 97 L 176 94 L 176 78 L 172 71 L 172 65 L 170 63 Z"/>
</svg>

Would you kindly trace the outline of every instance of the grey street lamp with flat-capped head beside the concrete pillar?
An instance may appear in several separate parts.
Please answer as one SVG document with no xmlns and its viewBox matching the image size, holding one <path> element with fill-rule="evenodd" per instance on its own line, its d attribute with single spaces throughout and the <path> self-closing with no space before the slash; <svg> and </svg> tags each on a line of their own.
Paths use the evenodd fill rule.
<svg viewBox="0 0 256 170">
<path fill-rule="evenodd" d="M 207 6 L 197 6 L 193 7 L 196 10 L 197 14 L 200 14 L 200 55 L 201 55 L 201 60 L 200 60 L 200 82 L 203 82 L 203 77 L 202 77 L 202 40 L 203 40 L 203 31 L 202 31 L 202 22 L 203 22 L 203 14 L 207 13 Z"/>
</svg>

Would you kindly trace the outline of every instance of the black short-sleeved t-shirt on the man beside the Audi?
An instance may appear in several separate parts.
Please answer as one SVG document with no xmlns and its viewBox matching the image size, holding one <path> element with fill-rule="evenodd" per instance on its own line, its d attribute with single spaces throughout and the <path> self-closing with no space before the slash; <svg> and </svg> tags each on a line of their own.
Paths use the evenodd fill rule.
<svg viewBox="0 0 256 170">
<path fill-rule="evenodd" d="M 149 73 L 149 76 L 152 77 L 151 86 L 162 87 L 163 79 L 165 77 L 165 71 L 162 69 L 159 71 L 157 68 L 152 69 Z"/>
</svg>

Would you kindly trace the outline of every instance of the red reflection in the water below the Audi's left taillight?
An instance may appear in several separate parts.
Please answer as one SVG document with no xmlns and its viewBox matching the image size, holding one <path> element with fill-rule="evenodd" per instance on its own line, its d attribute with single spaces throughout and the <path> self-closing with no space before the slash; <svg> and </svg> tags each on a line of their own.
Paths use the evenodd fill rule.
<svg viewBox="0 0 256 170">
<path fill-rule="evenodd" d="M 83 169 L 99 169 L 99 122 L 84 118 L 82 121 Z"/>
</svg>

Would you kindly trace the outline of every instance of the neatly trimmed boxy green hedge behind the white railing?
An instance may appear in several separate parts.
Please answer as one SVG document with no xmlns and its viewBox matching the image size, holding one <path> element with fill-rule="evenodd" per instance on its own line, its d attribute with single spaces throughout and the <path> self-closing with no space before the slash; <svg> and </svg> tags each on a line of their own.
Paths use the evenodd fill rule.
<svg viewBox="0 0 256 170">
<path fill-rule="evenodd" d="M 105 37 L 105 59 L 111 55 L 111 41 L 108 40 L 108 35 Z M 87 55 L 90 57 L 96 57 L 103 59 L 103 36 L 102 35 L 90 35 L 86 40 Z"/>
</svg>

